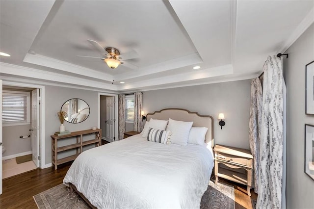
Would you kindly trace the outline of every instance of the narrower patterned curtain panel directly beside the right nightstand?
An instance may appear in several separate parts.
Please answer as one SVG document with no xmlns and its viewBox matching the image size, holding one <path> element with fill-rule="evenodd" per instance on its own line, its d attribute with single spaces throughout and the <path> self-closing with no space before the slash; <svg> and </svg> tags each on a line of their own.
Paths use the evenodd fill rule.
<svg viewBox="0 0 314 209">
<path fill-rule="evenodd" d="M 254 191 L 258 193 L 259 160 L 262 127 L 262 84 L 260 78 L 251 79 L 251 108 L 249 121 L 249 143 L 254 157 Z"/>
</svg>

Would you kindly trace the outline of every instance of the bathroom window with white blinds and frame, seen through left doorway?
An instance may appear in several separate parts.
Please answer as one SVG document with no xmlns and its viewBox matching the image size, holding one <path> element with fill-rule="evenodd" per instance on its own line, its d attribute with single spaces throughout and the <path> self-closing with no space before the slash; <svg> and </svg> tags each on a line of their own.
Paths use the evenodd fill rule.
<svg viewBox="0 0 314 209">
<path fill-rule="evenodd" d="M 23 125 L 30 122 L 30 93 L 23 91 L 2 92 L 3 126 Z"/>
</svg>

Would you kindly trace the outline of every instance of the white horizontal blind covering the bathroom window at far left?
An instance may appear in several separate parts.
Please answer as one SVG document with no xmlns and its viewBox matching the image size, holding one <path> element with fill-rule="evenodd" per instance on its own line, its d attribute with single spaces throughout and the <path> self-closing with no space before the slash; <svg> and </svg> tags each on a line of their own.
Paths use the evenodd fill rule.
<svg viewBox="0 0 314 209">
<path fill-rule="evenodd" d="M 27 94 L 2 94 L 2 122 L 27 122 Z"/>
</svg>

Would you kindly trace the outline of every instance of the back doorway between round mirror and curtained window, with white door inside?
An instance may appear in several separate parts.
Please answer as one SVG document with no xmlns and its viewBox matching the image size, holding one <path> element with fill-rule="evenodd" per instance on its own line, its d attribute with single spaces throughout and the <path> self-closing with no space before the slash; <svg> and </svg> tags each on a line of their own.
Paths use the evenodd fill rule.
<svg viewBox="0 0 314 209">
<path fill-rule="evenodd" d="M 102 129 L 102 144 L 116 140 L 117 127 L 117 98 L 118 95 L 99 93 L 99 123 Z"/>
</svg>

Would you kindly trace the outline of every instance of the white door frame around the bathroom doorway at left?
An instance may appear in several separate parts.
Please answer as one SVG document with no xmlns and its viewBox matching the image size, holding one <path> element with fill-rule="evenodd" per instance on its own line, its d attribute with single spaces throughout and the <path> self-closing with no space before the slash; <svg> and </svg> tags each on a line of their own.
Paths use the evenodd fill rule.
<svg viewBox="0 0 314 209">
<path fill-rule="evenodd" d="M 45 159 L 45 86 L 34 85 L 29 83 L 18 83 L 2 80 L 2 85 L 6 86 L 16 86 L 16 87 L 27 87 L 27 88 L 37 88 L 40 89 L 40 168 L 46 168 L 46 159 Z M 2 122 L 1 122 L 2 123 Z M 2 173 L 2 171 L 1 171 Z"/>
</svg>

